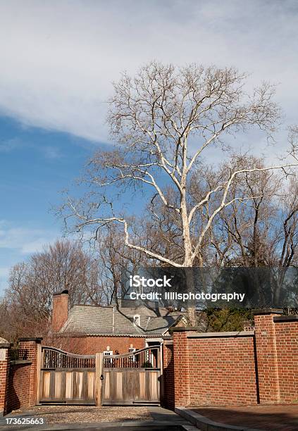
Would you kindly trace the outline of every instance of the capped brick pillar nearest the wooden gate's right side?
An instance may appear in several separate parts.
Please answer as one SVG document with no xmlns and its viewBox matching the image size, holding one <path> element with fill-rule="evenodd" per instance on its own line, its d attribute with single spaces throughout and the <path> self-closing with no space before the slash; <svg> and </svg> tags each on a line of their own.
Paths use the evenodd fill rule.
<svg viewBox="0 0 298 431">
<path fill-rule="evenodd" d="M 173 328 L 175 407 L 190 404 L 190 361 L 187 335 L 196 327 Z"/>
</svg>

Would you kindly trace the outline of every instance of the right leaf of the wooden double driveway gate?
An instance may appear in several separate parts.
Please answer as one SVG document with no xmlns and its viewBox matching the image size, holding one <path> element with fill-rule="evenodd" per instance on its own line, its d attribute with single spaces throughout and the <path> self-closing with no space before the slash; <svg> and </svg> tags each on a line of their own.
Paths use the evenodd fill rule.
<svg viewBox="0 0 298 431">
<path fill-rule="evenodd" d="M 103 356 L 101 404 L 160 404 L 161 346 Z"/>
</svg>

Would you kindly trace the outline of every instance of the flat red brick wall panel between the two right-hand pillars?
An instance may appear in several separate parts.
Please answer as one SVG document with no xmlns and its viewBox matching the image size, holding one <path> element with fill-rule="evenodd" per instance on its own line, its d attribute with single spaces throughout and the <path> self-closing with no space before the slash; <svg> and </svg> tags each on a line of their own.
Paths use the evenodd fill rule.
<svg viewBox="0 0 298 431">
<path fill-rule="evenodd" d="M 189 338 L 190 404 L 256 404 L 254 338 Z"/>
</svg>

